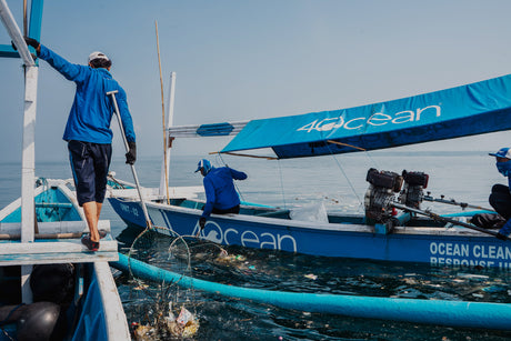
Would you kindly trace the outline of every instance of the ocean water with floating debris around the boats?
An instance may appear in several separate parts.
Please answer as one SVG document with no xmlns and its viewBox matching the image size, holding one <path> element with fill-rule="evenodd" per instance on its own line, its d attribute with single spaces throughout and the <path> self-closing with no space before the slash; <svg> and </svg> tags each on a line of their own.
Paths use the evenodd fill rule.
<svg viewBox="0 0 511 341">
<path fill-rule="evenodd" d="M 172 157 L 171 185 L 201 185 L 193 171 L 201 157 Z M 434 198 L 454 199 L 488 207 L 493 183 L 505 183 L 485 152 L 381 151 L 338 157 L 268 161 L 236 157 L 209 157 L 216 166 L 248 173 L 237 183 L 244 201 L 277 207 L 307 207 L 323 202 L 328 210 L 362 212 L 369 168 L 430 175 L 427 191 Z M 161 164 L 143 157 L 136 163 L 140 182 L 157 187 Z M 131 180 L 130 169 L 114 160 L 111 170 Z M 70 178 L 67 162 L 37 162 L 37 175 Z M 0 207 L 20 195 L 20 164 L 0 164 Z M 422 208 L 444 213 L 459 211 L 448 204 L 424 202 Z M 129 252 L 139 235 L 127 228 L 108 203 L 101 219 L 109 219 L 120 251 Z M 141 239 L 138 239 L 140 241 Z M 169 252 L 172 240 L 158 238 L 150 258 Z M 331 259 L 239 247 L 227 248 L 236 258 L 218 259 L 218 248 L 201 243 L 190 248 L 190 269 L 173 258 L 162 267 L 221 283 L 294 292 L 339 293 L 409 299 L 463 300 L 511 303 L 511 273 L 475 268 L 434 268 L 413 263 L 385 263 Z M 129 273 L 116 272 L 129 322 L 144 323 L 157 311 L 161 295 L 154 283 L 141 283 Z M 161 284 L 161 283 L 160 283 Z M 149 288 L 144 287 L 149 285 Z M 511 333 L 481 329 L 358 319 L 285 310 L 270 304 L 236 300 L 200 291 L 167 287 L 176 303 L 186 304 L 198 318 L 194 340 L 509 340 Z"/>
</svg>

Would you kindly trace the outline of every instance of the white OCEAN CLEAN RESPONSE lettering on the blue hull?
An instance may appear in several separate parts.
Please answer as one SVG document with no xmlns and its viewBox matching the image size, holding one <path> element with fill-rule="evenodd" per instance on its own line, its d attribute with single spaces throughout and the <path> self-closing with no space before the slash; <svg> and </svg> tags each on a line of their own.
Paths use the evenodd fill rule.
<svg viewBox="0 0 511 341">
<path fill-rule="evenodd" d="M 505 245 L 431 242 L 432 265 L 499 267 L 511 269 L 511 248 Z M 509 261 L 509 262 L 505 262 Z"/>
</svg>

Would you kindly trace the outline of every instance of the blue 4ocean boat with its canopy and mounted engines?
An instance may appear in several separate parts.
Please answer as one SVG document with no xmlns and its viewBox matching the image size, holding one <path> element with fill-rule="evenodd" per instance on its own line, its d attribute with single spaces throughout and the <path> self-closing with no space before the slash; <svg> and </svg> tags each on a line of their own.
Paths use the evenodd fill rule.
<svg viewBox="0 0 511 341">
<path fill-rule="evenodd" d="M 220 153 L 269 148 L 275 159 L 339 154 L 488 133 L 511 128 L 511 76 L 357 108 L 301 116 L 169 128 L 169 138 L 236 137 Z M 242 154 L 247 156 L 247 154 Z M 494 231 L 420 214 L 428 174 L 368 170 L 365 214 L 305 214 L 242 204 L 240 214 L 212 214 L 200 231 L 203 201 L 147 190 L 154 225 L 167 234 L 221 244 L 315 255 L 407 261 L 432 265 L 511 268 L 511 243 Z M 109 202 L 130 225 L 146 227 L 132 184 L 112 179 Z M 167 198 L 168 201 L 167 201 Z M 413 211 L 415 210 L 415 211 Z M 419 213 L 418 213 L 419 211 Z M 474 212 L 462 213 L 470 220 Z M 453 227 L 453 223 L 455 224 Z"/>
</svg>

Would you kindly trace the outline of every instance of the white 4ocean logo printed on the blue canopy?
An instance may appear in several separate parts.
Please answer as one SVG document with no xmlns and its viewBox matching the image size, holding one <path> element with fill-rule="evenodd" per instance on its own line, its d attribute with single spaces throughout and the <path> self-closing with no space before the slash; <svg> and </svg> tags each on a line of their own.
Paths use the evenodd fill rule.
<svg viewBox="0 0 511 341">
<path fill-rule="evenodd" d="M 384 113 L 384 108 L 374 112 L 369 118 L 357 117 L 353 119 L 347 119 L 343 114 L 344 110 L 340 110 L 341 114 L 333 118 L 324 118 L 322 120 L 314 120 L 305 126 L 298 128 L 297 131 L 330 131 L 339 128 L 355 130 L 367 126 L 385 126 L 385 124 L 402 124 L 408 122 L 419 122 L 424 118 L 423 113 L 428 112 L 428 117 L 434 116 L 439 118 L 441 116 L 440 106 L 429 106 L 425 108 L 418 108 L 415 110 L 403 110 L 394 114 Z"/>
</svg>

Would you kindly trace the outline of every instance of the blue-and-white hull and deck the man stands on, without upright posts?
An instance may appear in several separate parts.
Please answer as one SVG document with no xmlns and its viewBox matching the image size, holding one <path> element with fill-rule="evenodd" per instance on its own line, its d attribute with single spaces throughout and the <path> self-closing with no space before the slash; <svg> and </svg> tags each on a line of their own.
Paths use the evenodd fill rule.
<svg viewBox="0 0 511 341">
<path fill-rule="evenodd" d="M 31 243 L 20 240 L 21 198 L 0 211 L 0 340 L 130 338 L 108 263 L 118 259 L 110 222 L 100 221 L 107 235 L 98 252 L 88 252 L 80 242 L 88 227 L 71 184 L 37 180 Z M 23 274 L 23 268 L 30 271 Z"/>
</svg>

